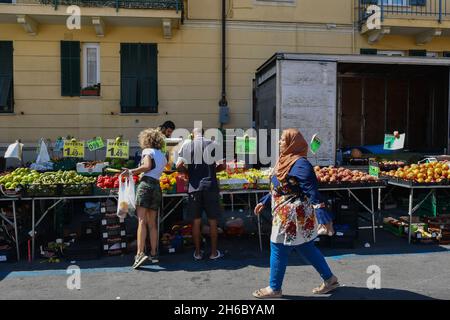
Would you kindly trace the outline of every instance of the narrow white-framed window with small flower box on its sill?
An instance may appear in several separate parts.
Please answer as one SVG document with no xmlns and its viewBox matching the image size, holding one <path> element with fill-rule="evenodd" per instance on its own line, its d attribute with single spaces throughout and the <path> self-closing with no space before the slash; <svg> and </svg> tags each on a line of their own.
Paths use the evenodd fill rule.
<svg viewBox="0 0 450 320">
<path fill-rule="evenodd" d="M 83 82 L 82 96 L 100 95 L 100 45 L 83 44 Z"/>
</svg>

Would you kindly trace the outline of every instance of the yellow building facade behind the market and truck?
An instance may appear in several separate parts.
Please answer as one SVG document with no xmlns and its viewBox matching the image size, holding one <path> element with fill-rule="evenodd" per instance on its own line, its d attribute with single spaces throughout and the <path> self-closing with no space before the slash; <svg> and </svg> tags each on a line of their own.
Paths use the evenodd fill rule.
<svg viewBox="0 0 450 320">
<path fill-rule="evenodd" d="M 220 126 L 220 0 L 172 1 L 175 4 L 170 8 L 152 7 L 164 1 L 141 0 L 145 8 L 139 4 L 118 10 L 101 5 L 102 1 L 73 1 L 81 8 L 81 29 L 73 30 L 66 25 L 69 2 L 57 8 L 53 1 L 43 0 L 0 3 L 0 41 L 13 46 L 14 100 L 9 110 L 0 113 L 0 143 L 16 139 L 34 143 L 41 137 L 54 140 L 66 135 L 90 139 L 123 134 L 136 140 L 140 130 L 166 120 L 181 128 L 192 128 L 195 120 L 202 120 L 206 128 Z M 445 2 L 439 1 L 447 8 Z M 450 51 L 450 20 L 446 21 L 445 14 L 436 16 L 433 11 L 419 16 L 411 11 L 399 15 L 386 10 L 381 26 L 367 30 L 361 26 L 361 16 L 371 3 L 227 0 L 230 121 L 225 127 L 252 126 L 255 71 L 275 52 L 359 54 L 361 49 L 377 49 L 383 54 L 408 55 L 410 50 L 426 50 L 442 56 Z M 80 44 L 80 87 L 85 86 L 86 69 L 92 67 L 85 62 L 83 48 L 97 48 L 98 56 L 91 62 L 95 64 L 92 70 L 98 69 L 94 72 L 101 84 L 100 96 L 62 95 L 61 41 Z M 156 44 L 156 112 L 127 113 L 121 108 L 124 43 Z"/>
</svg>

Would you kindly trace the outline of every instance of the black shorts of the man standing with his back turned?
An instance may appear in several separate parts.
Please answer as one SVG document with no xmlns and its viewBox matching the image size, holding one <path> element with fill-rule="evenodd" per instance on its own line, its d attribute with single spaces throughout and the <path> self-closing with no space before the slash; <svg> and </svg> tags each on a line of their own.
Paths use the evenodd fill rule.
<svg viewBox="0 0 450 320">
<path fill-rule="evenodd" d="M 203 211 L 205 211 L 208 220 L 219 219 L 222 211 L 219 198 L 220 195 L 217 191 L 196 191 L 189 193 L 189 219 L 201 219 Z"/>
</svg>

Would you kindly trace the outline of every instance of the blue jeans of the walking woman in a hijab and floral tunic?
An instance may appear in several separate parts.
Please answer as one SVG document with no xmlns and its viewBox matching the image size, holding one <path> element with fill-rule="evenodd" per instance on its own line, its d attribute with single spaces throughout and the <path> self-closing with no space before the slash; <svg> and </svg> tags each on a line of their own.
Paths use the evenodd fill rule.
<svg viewBox="0 0 450 320">
<path fill-rule="evenodd" d="M 314 241 L 309 241 L 298 246 L 286 246 L 282 243 L 270 242 L 270 287 L 272 290 L 281 290 L 288 255 L 292 249 L 296 249 L 301 256 L 309 261 L 323 280 L 328 280 L 333 276 L 330 267 L 322 253 L 316 248 Z"/>
</svg>

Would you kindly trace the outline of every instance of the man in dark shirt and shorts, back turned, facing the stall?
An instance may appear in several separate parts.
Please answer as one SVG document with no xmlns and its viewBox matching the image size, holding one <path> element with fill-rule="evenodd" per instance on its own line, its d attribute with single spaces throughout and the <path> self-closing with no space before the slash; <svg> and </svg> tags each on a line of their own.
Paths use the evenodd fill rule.
<svg viewBox="0 0 450 320">
<path fill-rule="evenodd" d="M 183 145 L 178 161 L 177 169 L 183 171 L 187 166 L 189 175 L 189 216 L 193 220 L 192 238 L 195 244 L 194 260 L 203 259 L 204 252 L 201 250 L 201 218 L 203 210 L 210 226 L 211 253 L 210 260 L 216 260 L 223 257 L 223 254 L 217 250 L 218 227 L 217 220 L 221 213 L 219 203 L 219 185 L 216 172 L 223 170 L 223 165 L 216 165 L 215 161 L 205 161 L 203 151 L 208 148 L 211 150 L 211 140 L 203 138 L 202 129 L 193 130 L 194 139 Z M 197 157 L 196 155 L 200 155 Z M 214 152 L 211 153 L 215 157 Z M 201 158 L 201 159 L 197 159 Z M 199 160 L 198 162 L 196 160 Z M 213 159 L 209 159 L 213 160 Z"/>
</svg>

